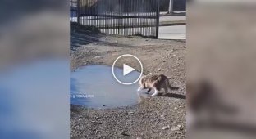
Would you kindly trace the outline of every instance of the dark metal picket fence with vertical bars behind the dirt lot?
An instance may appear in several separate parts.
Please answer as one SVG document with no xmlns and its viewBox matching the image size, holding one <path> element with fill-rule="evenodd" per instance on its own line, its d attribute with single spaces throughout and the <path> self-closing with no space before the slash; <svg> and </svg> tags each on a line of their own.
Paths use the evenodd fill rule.
<svg viewBox="0 0 256 139">
<path fill-rule="evenodd" d="M 71 22 L 106 34 L 158 38 L 159 0 L 70 0 Z"/>
</svg>

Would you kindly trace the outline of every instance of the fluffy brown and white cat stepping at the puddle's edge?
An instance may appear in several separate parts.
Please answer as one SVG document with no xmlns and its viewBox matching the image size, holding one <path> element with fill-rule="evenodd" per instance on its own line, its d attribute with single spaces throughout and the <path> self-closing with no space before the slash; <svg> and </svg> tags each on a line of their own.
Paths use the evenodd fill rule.
<svg viewBox="0 0 256 139">
<path fill-rule="evenodd" d="M 158 92 L 162 88 L 164 89 L 165 94 L 168 92 L 168 88 L 171 90 L 173 89 L 167 76 L 164 74 L 150 74 L 139 79 L 139 88 L 137 91 L 139 92 L 142 89 L 148 89 L 147 93 L 149 93 L 152 89 L 154 89 L 154 93 L 151 96 L 157 96 Z"/>
</svg>

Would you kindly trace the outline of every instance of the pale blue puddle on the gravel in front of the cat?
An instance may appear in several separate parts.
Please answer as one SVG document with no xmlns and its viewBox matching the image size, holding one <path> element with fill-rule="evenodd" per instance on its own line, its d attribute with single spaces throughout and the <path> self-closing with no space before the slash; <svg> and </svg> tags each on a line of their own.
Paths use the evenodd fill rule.
<svg viewBox="0 0 256 139">
<path fill-rule="evenodd" d="M 115 69 L 115 73 L 127 81 L 139 74 L 133 71 L 123 76 L 119 68 Z M 111 66 L 87 65 L 71 72 L 71 104 L 99 109 L 135 105 L 139 102 L 138 87 L 138 83 L 118 83 L 112 76 Z"/>
</svg>

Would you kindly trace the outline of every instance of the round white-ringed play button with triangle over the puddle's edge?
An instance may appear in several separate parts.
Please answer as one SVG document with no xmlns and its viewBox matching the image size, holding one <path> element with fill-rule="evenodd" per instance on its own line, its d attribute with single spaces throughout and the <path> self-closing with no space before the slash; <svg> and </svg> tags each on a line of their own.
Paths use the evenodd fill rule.
<svg viewBox="0 0 256 139">
<path fill-rule="evenodd" d="M 130 54 L 118 56 L 112 65 L 113 77 L 121 84 L 130 85 L 138 82 L 142 73 L 141 62 L 136 56 Z"/>
</svg>

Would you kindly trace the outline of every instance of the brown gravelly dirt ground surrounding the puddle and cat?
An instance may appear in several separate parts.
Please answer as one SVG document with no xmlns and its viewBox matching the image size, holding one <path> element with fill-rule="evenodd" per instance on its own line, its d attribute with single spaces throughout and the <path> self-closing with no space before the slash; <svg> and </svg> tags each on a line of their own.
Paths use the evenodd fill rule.
<svg viewBox="0 0 256 139">
<path fill-rule="evenodd" d="M 71 29 L 71 70 L 112 65 L 128 53 L 139 58 L 144 74 L 165 74 L 172 86 L 179 87 L 127 107 L 94 110 L 71 105 L 71 138 L 185 138 L 185 49 L 185 41 Z M 139 68 L 132 61 L 127 65 Z"/>
</svg>

